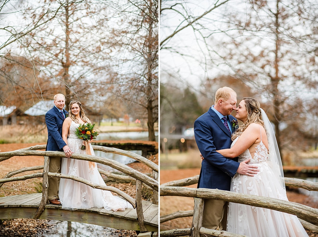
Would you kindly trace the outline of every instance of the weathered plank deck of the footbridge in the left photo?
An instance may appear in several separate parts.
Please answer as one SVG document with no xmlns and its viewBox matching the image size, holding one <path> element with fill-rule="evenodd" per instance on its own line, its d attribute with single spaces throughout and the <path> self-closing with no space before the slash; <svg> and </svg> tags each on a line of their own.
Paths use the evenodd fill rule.
<svg viewBox="0 0 318 237">
<path fill-rule="evenodd" d="M 0 198 L 0 219 L 32 219 L 41 203 L 42 193 L 31 193 Z M 148 231 L 158 231 L 158 205 L 142 201 L 144 224 Z M 68 220 L 106 226 L 114 229 L 140 230 L 134 208 L 125 211 L 108 211 L 104 208 L 62 209 L 61 206 L 45 205 L 39 219 Z"/>
</svg>

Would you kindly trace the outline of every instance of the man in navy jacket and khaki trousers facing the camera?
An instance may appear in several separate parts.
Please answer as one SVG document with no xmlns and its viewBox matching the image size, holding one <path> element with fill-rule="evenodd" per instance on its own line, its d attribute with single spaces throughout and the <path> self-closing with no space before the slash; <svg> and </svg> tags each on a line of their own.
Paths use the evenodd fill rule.
<svg viewBox="0 0 318 237">
<path fill-rule="evenodd" d="M 62 125 L 68 112 L 64 110 L 65 96 L 56 94 L 54 96 L 54 107 L 45 114 L 47 126 L 46 151 L 64 151 L 66 157 L 71 157 L 71 149 L 62 139 Z M 61 173 L 61 158 L 50 157 L 49 172 Z M 60 205 L 59 201 L 59 178 L 49 176 L 48 200 L 51 204 Z"/>
</svg>

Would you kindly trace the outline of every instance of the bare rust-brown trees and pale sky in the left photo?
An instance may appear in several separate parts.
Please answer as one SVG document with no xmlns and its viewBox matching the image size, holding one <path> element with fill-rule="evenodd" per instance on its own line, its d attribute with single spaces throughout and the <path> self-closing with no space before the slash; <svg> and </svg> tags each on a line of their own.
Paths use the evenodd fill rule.
<svg viewBox="0 0 318 237">
<path fill-rule="evenodd" d="M 110 118 L 158 121 L 158 1 L 0 3 L 0 105 L 66 96 Z"/>
</svg>

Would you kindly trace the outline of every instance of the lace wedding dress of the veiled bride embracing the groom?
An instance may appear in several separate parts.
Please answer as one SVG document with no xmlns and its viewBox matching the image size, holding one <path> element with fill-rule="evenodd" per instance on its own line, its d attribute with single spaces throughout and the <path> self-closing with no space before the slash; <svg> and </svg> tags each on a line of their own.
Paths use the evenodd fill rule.
<svg viewBox="0 0 318 237">
<path fill-rule="evenodd" d="M 232 146 L 237 139 L 239 137 L 233 141 Z M 231 191 L 288 201 L 286 190 L 279 181 L 281 177 L 273 171 L 271 162 L 267 160 L 267 149 L 262 141 L 256 146 L 253 157 L 248 149 L 239 156 L 239 162 L 247 159 L 251 159 L 249 164 L 258 165 L 259 173 L 254 177 L 236 173 Z M 227 231 L 250 237 L 308 236 L 295 215 L 232 202 L 229 203 Z"/>
</svg>

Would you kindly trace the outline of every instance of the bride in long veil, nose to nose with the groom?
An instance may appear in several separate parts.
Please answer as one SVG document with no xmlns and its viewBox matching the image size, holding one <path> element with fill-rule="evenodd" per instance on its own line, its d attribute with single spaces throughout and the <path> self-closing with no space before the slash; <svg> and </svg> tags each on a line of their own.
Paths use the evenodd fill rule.
<svg viewBox="0 0 318 237">
<path fill-rule="evenodd" d="M 231 148 L 217 152 L 228 158 L 239 157 L 239 162 L 250 159 L 248 164 L 257 164 L 259 173 L 254 177 L 236 173 L 231 191 L 288 201 L 280 154 L 266 113 L 254 98 L 243 98 L 236 111 L 235 117 L 243 124 L 233 133 Z M 308 236 L 295 215 L 232 202 L 227 231 L 250 237 Z"/>
</svg>

